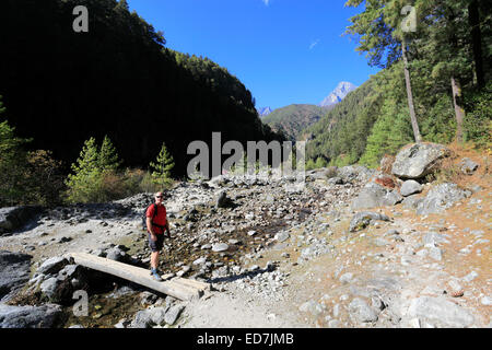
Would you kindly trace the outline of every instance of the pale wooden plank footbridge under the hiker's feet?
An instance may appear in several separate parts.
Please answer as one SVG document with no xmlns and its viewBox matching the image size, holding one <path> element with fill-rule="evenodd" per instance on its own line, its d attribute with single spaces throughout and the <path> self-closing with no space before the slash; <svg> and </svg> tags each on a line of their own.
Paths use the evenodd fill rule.
<svg viewBox="0 0 492 350">
<path fill-rule="evenodd" d="M 203 294 L 202 290 L 191 285 L 190 283 L 183 283 L 173 280 L 164 282 L 155 281 L 149 275 L 148 269 L 97 257 L 86 253 L 69 253 L 68 255 L 72 257 L 78 265 L 126 279 L 179 300 L 198 299 Z"/>
</svg>

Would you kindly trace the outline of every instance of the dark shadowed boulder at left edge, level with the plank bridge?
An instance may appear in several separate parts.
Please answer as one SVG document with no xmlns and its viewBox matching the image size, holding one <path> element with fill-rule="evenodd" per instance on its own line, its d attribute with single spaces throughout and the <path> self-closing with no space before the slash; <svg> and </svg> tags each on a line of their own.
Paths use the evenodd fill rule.
<svg viewBox="0 0 492 350">
<path fill-rule="evenodd" d="M 0 300 L 10 300 L 30 279 L 31 255 L 0 250 Z"/>
</svg>

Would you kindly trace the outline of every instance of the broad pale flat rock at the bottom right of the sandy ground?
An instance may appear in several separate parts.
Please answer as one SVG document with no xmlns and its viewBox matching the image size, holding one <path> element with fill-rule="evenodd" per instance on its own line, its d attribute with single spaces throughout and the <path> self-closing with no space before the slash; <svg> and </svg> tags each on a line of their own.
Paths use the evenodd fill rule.
<svg viewBox="0 0 492 350">
<path fill-rule="evenodd" d="M 473 323 L 473 316 L 468 311 L 442 296 L 420 296 L 412 300 L 408 315 L 426 318 L 432 323 L 442 324 L 444 327 L 464 328 Z"/>
</svg>

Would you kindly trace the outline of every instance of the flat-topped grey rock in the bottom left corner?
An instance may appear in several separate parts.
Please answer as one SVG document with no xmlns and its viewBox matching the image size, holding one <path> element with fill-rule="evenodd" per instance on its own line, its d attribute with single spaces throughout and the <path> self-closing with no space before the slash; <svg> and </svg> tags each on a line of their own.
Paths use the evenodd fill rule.
<svg viewBox="0 0 492 350">
<path fill-rule="evenodd" d="M 11 306 L 0 304 L 0 328 L 50 328 L 61 314 L 61 306 Z"/>
</svg>

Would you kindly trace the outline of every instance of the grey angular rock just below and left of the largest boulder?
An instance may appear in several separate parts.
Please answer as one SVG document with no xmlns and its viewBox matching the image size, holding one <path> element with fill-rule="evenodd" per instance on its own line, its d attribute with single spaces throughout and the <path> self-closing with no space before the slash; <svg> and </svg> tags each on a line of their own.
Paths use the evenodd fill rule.
<svg viewBox="0 0 492 350">
<path fill-rule="evenodd" d="M 374 207 L 395 206 L 403 200 L 403 197 L 395 189 L 386 188 L 376 183 L 367 183 L 359 196 L 352 201 L 352 210 L 370 209 Z"/>
</svg>

